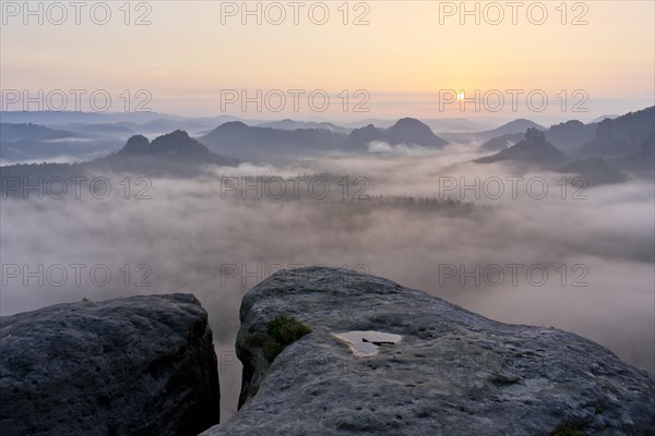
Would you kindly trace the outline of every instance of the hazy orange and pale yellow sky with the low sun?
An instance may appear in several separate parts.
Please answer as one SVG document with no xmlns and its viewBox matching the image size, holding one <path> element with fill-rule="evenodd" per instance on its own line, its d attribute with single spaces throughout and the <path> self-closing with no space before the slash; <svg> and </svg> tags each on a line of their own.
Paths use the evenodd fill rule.
<svg viewBox="0 0 655 436">
<path fill-rule="evenodd" d="M 87 2 L 80 10 L 80 25 L 69 2 L 59 3 L 66 19 L 61 8 L 29 2 L 35 11 L 40 4 L 43 25 L 39 13 L 25 16 L 22 1 L 1 3 L 3 90 L 106 89 L 118 110 L 124 89 L 132 94 L 132 110 L 144 98 L 135 92 L 147 89 L 152 100 L 145 107 L 153 110 L 246 118 L 511 118 L 507 89 L 522 90 L 516 113 L 537 120 L 591 119 L 654 100 L 653 1 L 467 2 L 469 11 L 477 3 L 479 24 L 476 14 L 462 15 L 460 2 L 438 1 L 349 2 L 347 8 L 342 1 L 307 1 L 297 9 L 286 1 L 248 2 L 252 11 L 260 8 L 261 24 L 257 13 L 243 16 L 242 2 L 148 1 L 130 8 L 123 1 Z M 105 21 L 106 9 L 111 12 L 107 24 L 95 24 L 92 17 Z M 151 24 L 135 25 L 140 16 Z M 369 24 L 354 25 L 357 17 Z M 63 24 L 56 25 L 59 21 Z M 277 21 L 282 23 L 273 24 Z M 273 95 L 270 105 L 260 99 L 261 112 L 254 104 L 243 112 L 238 101 L 222 108 L 222 89 L 246 89 L 251 96 L 255 89 L 263 95 L 281 89 L 286 104 L 279 112 L 271 110 L 282 101 Z M 305 90 L 297 112 L 288 89 Z M 317 89 L 330 95 L 324 112 L 307 101 Z M 344 89 L 349 94 L 346 111 L 337 96 Z M 358 89 L 370 96 L 362 106 L 369 112 L 353 111 L 365 100 L 354 95 Z M 478 99 L 479 112 L 473 104 L 461 112 L 456 102 L 440 110 L 446 97 L 440 98 L 440 89 L 465 89 L 467 97 L 475 89 L 481 95 L 499 89 L 505 101 L 499 112 L 490 110 L 497 107 L 497 94 L 488 105 Z M 525 107 L 526 95 L 535 89 L 549 98 L 543 112 Z M 562 89 L 568 95 L 564 113 Z M 584 94 L 574 94 L 576 89 L 588 100 L 582 102 Z M 571 112 L 575 102 L 588 112 Z M 3 108 L 21 109 L 17 105 Z"/>
</svg>

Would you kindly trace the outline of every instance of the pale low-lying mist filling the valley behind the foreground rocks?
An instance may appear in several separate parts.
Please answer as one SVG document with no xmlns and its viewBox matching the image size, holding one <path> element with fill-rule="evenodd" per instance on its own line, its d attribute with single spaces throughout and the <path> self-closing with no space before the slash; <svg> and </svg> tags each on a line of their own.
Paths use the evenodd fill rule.
<svg viewBox="0 0 655 436">
<path fill-rule="evenodd" d="M 3 198 L 1 313 L 83 298 L 191 292 L 210 314 L 224 421 L 240 386 L 234 341 L 241 296 L 279 268 L 314 264 L 382 276 L 493 319 L 570 330 L 655 372 L 652 181 L 577 192 L 561 183 L 563 174 L 469 161 L 478 156 L 475 146 L 434 152 L 378 144 L 369 155 L 154 179 L 150 199 L 128 199 L 122 191 L 106 199 Z M 352 191 L 345 202 L 265 193 L 258 199 L 234 183 L 226 190 L 222 179 L 317 173 L 364 178 L 362 195 L 451 197 L 473 206 L 370 204 Z M 460 189 L 476 180 L 479 198 L 475 189 Z M 341 195 L 343 185 L 330 189 Z M 76 264 L 84 266 L 70 266 Z M 33 275 L 39 265 L 43 283 Z M 66 280 L 53 265 L 63 266 Z M 90 278 L 92 269 L 99 279 Z"/>
</svg>

